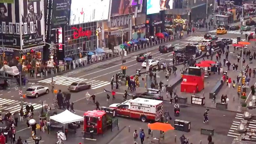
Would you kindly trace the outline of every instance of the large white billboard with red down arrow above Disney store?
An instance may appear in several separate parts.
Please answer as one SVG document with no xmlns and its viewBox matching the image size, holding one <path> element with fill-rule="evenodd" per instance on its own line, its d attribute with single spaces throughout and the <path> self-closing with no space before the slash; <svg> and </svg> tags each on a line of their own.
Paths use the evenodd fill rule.
<svg viewBox="0 0 256 144">
<path fill-rule="evenodd" d="M 72 0 L 69 25 L 108 19 L 110 0 Z"/>
</svg>

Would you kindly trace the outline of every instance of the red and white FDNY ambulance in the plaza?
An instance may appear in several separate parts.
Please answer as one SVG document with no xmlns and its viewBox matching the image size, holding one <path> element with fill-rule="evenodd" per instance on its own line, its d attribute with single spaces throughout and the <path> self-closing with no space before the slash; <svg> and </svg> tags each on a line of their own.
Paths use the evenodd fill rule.
<svg viewBox="0 0 256 144">
<path fill-rule="evenodd" d="M 116 110 L 116 115 L 141 121 L 158 121 L 163 113 L 163 101 L 146 98 L 130 99 L 120 104 L 109 106 Z"/>
</svg>

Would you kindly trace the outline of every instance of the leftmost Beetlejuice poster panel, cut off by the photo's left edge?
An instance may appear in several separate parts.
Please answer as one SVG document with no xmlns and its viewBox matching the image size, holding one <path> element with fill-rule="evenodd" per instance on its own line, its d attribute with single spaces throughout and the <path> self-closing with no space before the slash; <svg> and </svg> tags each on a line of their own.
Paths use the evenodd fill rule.
<svg viewBox="0 0 256 144">
<path fill-rule="evenodd" d="M 19 0 L 0 0 L 0 14 L 0 44 L 20 50 Z"/>
</svg>

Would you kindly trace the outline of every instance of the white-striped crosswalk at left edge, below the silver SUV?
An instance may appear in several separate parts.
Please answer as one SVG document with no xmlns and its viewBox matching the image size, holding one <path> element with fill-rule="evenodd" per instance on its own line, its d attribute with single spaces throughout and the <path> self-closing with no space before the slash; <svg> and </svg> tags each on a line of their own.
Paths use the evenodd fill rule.
<svg viewBox="0 0 256 144">
<path fill-rule="evenodd" d="M 34 109 L 39 109 L 42 108 L 42 104 L 35 104 L 35 103 L 29 103 L 29 102 L 23 102 L 23 111 L 26 111 L 26 105 L 32 105 Z M 5 99 L 5 98 L 0 98 L 0 113 L 4 112 L 19 112 L 21 109 L 21 102 L 17 100 L 12 100 L 12 99 Z"/>
</svg>

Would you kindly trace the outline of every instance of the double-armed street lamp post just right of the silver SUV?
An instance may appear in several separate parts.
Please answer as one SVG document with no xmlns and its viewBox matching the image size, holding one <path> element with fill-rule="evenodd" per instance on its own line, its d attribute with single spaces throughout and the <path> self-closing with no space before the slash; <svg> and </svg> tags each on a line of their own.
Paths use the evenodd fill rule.
<svg viewBox="0 0 256 144">
<path fill-rule="evenodd" d="M 50 51 L 51 51 L 51 77 L 52 77 L 52 82 L 50 83 L 52 85 L 52 93 L 53 93 L 53 103 L 54 103 L 54 83 L 53 83 L 53 46 L 55 45 L 65 45 L 65 44 L 53 44 L 53 42 L 51 42 L 51 44 L 46 43 L 46 42 L 40 42 L 40 43 L 44 43 L 50 46 Z M 52 104 L 53 105 L 53 104 Z M 52 109 L 55 109 L 54 105 L 52 107 Z"/>
</svg>

